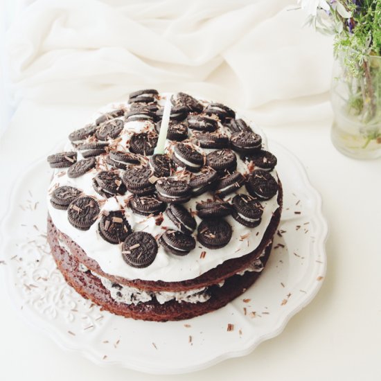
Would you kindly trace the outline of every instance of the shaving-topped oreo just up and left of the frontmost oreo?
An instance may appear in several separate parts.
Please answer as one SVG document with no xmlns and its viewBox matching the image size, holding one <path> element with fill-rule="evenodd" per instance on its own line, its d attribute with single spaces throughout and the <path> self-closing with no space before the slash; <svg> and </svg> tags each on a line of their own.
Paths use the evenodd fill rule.
<svg viewBox="0 0 381 381">
<path fill-rule="evenodd" d="M 98 224 L 99 235 L 107 242 L 117 245 L 132 233 L 123 211 L 104 211 Z"/>
</svg>

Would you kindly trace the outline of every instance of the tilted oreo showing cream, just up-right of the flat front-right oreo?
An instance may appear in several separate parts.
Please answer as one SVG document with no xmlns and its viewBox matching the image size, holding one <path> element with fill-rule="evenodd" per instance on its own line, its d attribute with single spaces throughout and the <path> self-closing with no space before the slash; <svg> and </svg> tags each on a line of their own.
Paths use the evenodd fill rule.
<svg viewBox="0 0 381 381">
<path fill-rule="evenodd" d="M 251 195 L 236 195 L 231 201 L 234 220 L 245 227 L 257 227 L 263 215 L 263 206 Z"/>
</svg>

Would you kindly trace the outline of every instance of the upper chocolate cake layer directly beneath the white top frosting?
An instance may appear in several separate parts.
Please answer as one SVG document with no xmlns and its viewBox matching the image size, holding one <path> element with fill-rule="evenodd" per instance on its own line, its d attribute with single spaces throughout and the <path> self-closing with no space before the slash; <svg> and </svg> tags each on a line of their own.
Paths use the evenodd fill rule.
<svg viewBox="0 0 381 381">
<path fill-rule="evenodd" d="M 218 265 L 217 267 L 215 267 L 214 269 L 211 269 L 208 272 L 202 274 L 201 276 L 198 276 L 197 278 L 189 279 L 186 281 L 181 281 L 181 282 L 142 281 L 140 279 L 131 280 L 126 278 L 121 278 L 120 276 L 112 276 L 111 274 L 106 274 L 105 272 L 103 272 L 102 269 L 100 269 L 96 260 L 89 258 L 89 256 L 87 256 L 85 251 L 83 251 L 82 248 L 76 244 L 76 242 L 73 242 L 71 238 L 69 238 L 64 233 L 58 231 L 55 228 L 55 225 L 53 224 L 50 217 L 48 218 L 48 238 L 49 240 L 51 240 L 51 242 L 53 242 L 53 240 L 57 240 L 58 238 L 60 238 L 60 240 L 64 242 L 64 245 L 69 247 L 71 254 L 73 255 L 73 257 L 76 258 L 76 260 L 78 260 L 79 263 L 82 263 L 82 265 L 85 265 L 88 269 L 91 270 L 91 272 L 94 272 L 100 276 L 108 278 L 110 281 L 119 283 L 121 285 L 136 287 L 141 290 L 147 290 L 147 291 L 170 291 L 170 292 L 186 291 L 186 290 L 192 290 L 195 288 L 206 287 L 209 285 L 220 283 L 221 281 L 224 281 L 226 278 L 233 276 L 237 272 L 245 270 L 247 267 L 249 267 L 250 263 L 254 262 L 254 260 L 256 260 L 256 258 L 258 258 L 258 256 L 260 256 L 260 254 L 263 253 L 263 250 L 265 249 L 265 247 L 267 247 L 267 245 L 269 245 L 269 242 L 272 242 L 272 238 L 274 234 L 276 233 L 276 230 L 278 229 L 278 224 L 281 220 L 283 192 L 282 192 L 281 182 L 279 181 L 278 184 L 279 184 L 278 204 L 280 206 L 276 210 L 274 215 L 272 216 L 272 220 L 269 226 L 267 227 L 265 231 L 265 235 L 263 236 L 263 239 L 260 242 L 260 245 L 258 245 L 257 249 L 240 258 L 232 258 L 230 260 L 227 260 L 221 265 Z"/>
</svg>

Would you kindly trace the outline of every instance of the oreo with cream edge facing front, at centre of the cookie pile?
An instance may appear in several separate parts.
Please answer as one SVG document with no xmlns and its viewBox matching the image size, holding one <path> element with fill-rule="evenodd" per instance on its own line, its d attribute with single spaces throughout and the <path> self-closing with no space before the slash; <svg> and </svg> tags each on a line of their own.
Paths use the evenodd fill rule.
<svg viewBox="0 0 381 381">
<path fill-rule="evenodd" d="M 156 182 L 157 197 L 168 204 L 182 204 L 190 200 L 190 186 L 187 181 L 163 177 Z"/>
</svg>

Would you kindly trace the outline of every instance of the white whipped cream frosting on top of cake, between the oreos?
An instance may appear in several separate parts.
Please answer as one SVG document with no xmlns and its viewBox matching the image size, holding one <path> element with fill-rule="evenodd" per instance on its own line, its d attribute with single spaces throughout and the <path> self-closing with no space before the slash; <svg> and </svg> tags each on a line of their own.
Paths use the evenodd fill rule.
<svg viewBox="0 0 381 381">
<path fill-rule="evenodd" d="M 164 105 L 166 98 L 171 96 L 171 94 L 161 94 L 158 101 L 159 105 Z M 209 103 L 201 100 L 204 105 Z M 94 115 L 89 123 L 94 123 L 96 118 L 105 114 L 105 112 L 110 112 L 115 109 L 120 109 L 124 107 L 129 108 L 128 103 L 114 103 L 100 109 L 98 113 Z M 237 118 L 240 116 L 237 115 Z M 120 119 L 123 120 L 123 117 Z M 224 127 L 220 124 L 221 131 L 227 136 L 231 135 L 229 128 Z M 251 128 L 254 132 L 260 134 L 263 138 L 263 149 L 267 149 L 267 141 L 263 132 L 258 129 L 255 125 L 251 125 Z M 130 139 L 132 134 L 137 132 L 147 132 L 155 131 L 154 124 L 150 121 L 128 121 L 125 122 L 123 131 L 116 141 L 114 141 L 114 149 L 125 150 L 126 142 Z M 191 130 L 190 130 L 191 133 Z M 176 142 L 166 141 L 166 152 L 169 154 L 172 153 L 172 145 Z M 68 140 L 67 145 L 64 147 L 65 151 L 76 150 L 71 145 L 71 142 Z M 204 152 L 209 153 L 213 150 L 203 149 Z M 80 151 L 78 151 L 78 160 L 82 159 Z M 53 172 L 53 179 L 51 181 L 49 191 L 48 191 L 48 212 L 51 215 L 51 218 L 62 233 L 67 234 L 72 240 L 74 240 L 82 249 L 86 252 L 87 256 L 96 260 L 103 272 L 113 275 L 121 276 L 127 279 L 141 279 L 144 281 L 166 281 L 166 282 L 176 282 L 176 281 L 185 281 L 188 279 L 197 278 L 201 274 L 217 267 L 218 265 L 224 263 L 224 261 L 231 258 L 239 258 L 249 254 L 251 251 L 254 251 L 260 241 L 263 238 L 263 234 L 269 225 L 269 222 L 272 218 L 273 213 L 278 209 L 279 205 L 277 202 L 277 195 L 272 197 L 271 200 L 260 202 L 263 206 L 263 216 L 258 227 L 248 228 L 245 227 L 231 216 L 227 216 L 225 220 L 229 222 L 232 227 L 233 234 L 228 245 L 222 249 L 207 249 L 203 247 L 200 242 L 197 241 L 195 249 L 190 251 L 186 256 L 175 256 L 173 254 L 167 253 L 161 245 L 159 245 L 159 250 L 157 256 L 154 259 L 154 262 L 143 268 L 135 268 L 127 265 L 123 260 L 121 254 L 121 245 L 112 245 L 103 240 L 98 234 L 98 220 L 90 227 L 87 231 L 81 231 L 73 227 L 67 219 L 67 211 L 62 211 L 59 209 L 53 208 L 50 202 L 50 195 L 57 186 L 73 186 L 83 191 L 86 195 L 95 197 L 100 203 L 101 211 L 114 211 L 125 208 L 125 216 L 130 223 L 133 231 L 146 231 L 151 233 L 152 236 L 159 236 L 165 230 L 176 229 L 172 221 L 166 216 L 166 213 L 163 213 L 163 222 L 161 225 L 156 224 L 156 218 L 147 217 L 143 215 L 137 215 L 132 213 L 132 210 L 126 206 L 126 199 L 131 195 L 127 191 L 123 196 L 111 197 L 105 200 L 103 197 L 96 193 L 92 186 L 92 179 L 96 176 L 99 170 L 107 170 L 105 166 L 105 158 L 103 156 L 98 157 L 98 170 L 92 169 L 87 172 L 85 175 L 71 179 L 67 176 L 67 168 L 57 168 Z M 247 164 L 240 159 L 237 155 L 237 170 L 242 174 L 248 173 Z M 277 179 L 276 171 L 273 170 L 270 172 L 272 176 Z M 123 175 L 123 170 L 121 170 L 121 176 Z M 233 197 L 235 194 L 242 193 L 247 194 L 245 186 L 242 186 L 236 193 L 229 195 Z M 203 193 L 198 197 L 193 197 L 189 202 L 186 202 L 184 207 L 186 209 L 191 209 L 192 211 L 196 210 L 196 203 L 201 200 L 206 200 L 207 198 L 212 198 L 212 193 Z M 195 215 L 195 220 L 197 225 L 200 224 L 201 219 Z M 193 236 L 196 238 L 197 229 L 193 233 Z M 203 251 L 206 251 L 206 255 L 203 255 Z"/>
</svg>

